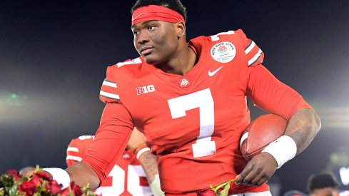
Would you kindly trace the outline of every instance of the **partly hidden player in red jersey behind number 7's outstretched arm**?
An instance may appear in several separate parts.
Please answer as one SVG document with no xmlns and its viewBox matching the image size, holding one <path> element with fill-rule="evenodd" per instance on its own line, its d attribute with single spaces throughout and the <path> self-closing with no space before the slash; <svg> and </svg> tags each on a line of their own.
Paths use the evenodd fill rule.
<svg viewBox="0 0 349 196">
<path fill-rule="evenodd" d="M 70 167 L 82 160 L 93 142 L 94 136 L 74 138 L 66 150 L 66 165 Z M 151 182 L 149 186 L 149 182 Z M 133 130 L 126 150 L 109 172 L 106 181 L 94 190 L 103 196 L 161 196 L 156 160 L 146 147 L 143 134 Z M 154 193 L 153 193 L 154 192 Z"/>
</svg>

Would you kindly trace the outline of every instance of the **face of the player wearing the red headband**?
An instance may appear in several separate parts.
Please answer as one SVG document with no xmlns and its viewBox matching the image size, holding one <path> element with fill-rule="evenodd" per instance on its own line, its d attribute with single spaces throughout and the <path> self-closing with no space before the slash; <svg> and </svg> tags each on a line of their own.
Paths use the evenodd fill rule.
<svg viewBox="0 0 349 196">
<path fill-rule="evenodd" d="M 166 63 L 178 49 L 175 24 L 164 21 L 144 21 L 132 26 L 133 44 L 147 63 Z"/>
</svg>

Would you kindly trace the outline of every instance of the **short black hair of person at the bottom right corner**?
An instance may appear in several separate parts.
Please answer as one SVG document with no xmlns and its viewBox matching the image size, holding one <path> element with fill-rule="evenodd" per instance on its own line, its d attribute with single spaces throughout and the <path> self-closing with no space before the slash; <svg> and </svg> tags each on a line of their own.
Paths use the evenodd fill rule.
<svg viewBox="0 0 349 196">
<path fill-rule="evenodd" d="M 308 180 L 308 190 L 313 192 L 315 189 L 333 187 L 334 189 L 338 188 L 338 182 L 335 178 L 335 175 L 332 173 L 323 173 L 319 175 L 310 175 Z"/>
</svg>

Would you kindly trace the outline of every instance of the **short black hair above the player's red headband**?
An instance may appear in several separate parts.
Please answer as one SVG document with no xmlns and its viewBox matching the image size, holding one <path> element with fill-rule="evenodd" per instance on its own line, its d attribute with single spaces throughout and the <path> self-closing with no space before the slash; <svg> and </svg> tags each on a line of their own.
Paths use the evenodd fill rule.
<svg viewBox="0 0 349 196">
<path fill-rule="evenodd" d="M 131 8 L 131 14 L 133 14 L 133 11 L 136 9 L 148 5 L 164 6 L 173 11 L 177 11 L 186 21 L 186 7 L 183 6 L 180 0 L 137 0 Z"/>
</svg>

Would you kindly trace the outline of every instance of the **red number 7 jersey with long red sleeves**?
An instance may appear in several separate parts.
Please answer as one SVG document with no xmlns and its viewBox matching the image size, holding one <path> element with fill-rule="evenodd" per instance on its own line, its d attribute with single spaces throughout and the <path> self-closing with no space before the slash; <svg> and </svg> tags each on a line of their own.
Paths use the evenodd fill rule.
<svg viewBox="0 0 349 196">
<path fill-rule="evenodd" d="M 200 36 L 188 46 L 197 63 L 184 76 L 163 72 L 141 57 L 108 67 L 100 96 L 107 103 L 96 133 L 100 141 L 84 160 L 102 180 L 103 170 L 110 170 L 106 163 L 120 156 L 115 149 L 126 145 L 135 125 L 156 155 L 163 191 L 190 194 L 216 186 L 235 178 L 247 163 L 239 148 L 250 123 L 246 97 L 285 119 L 309 107 L 261 65 L 261 48 L 243 31 Z M 113 149 L 106 151 L 108 145 Z M 230 194 L 265 190 L 266 184 L 232 183 Z"/>
</svg>

